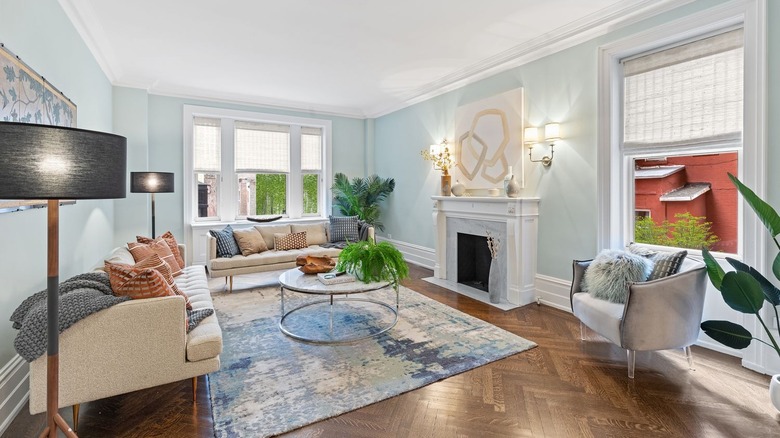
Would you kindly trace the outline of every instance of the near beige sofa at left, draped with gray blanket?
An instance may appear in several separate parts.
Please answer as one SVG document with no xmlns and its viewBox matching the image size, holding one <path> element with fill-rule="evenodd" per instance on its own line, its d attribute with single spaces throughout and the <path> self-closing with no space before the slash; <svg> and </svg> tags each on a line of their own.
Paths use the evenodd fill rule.
<svg viewBox="0 0 780 438">
<path fill-rule="evenodd" d="M 180 245 L 182 254 L 186 254 Z M 126 248 L 108 261 L 134 264 Z M 186 260 L 185 260 L 186 262 Z M 102 264 L 101 264 L 102 267 Z M 99 269 L 99 268 L 96 268 Z M 203 266 L 187 266 L 176 277 L 193 310 L 213 307 Z M 80 403 L 184 379 L 219 369 L 222 330 L 216 314 L 185 331 L 184 298 L 129 300 L 77 322 L 60 335 L 59 406 Z M 30 364 L 30 413 L 46 411 L 46 356 Z"/>
</svg>

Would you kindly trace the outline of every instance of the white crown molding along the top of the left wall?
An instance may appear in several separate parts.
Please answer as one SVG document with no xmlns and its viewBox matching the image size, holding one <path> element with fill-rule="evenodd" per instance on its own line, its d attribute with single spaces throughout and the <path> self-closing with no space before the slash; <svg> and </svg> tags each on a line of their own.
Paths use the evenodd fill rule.
<svg viewBox="0 0 780 438">
<path fill-rule="evenodd" d="M 76 32 L 81 35 L 84 44 L 92 52 L 92 56 L 100 66 L 100 69 L 108 77 L 109 82 L 115 85 L 117 78 L 122 74 L 122 69 L 114 58 L 113 50 L 111 50 L 111 46 L 108 43 L 103 25 L 95 16 L 92 7 L 85 2 L 83 7 L 78 9 L 73 5 L 73 0 L 59 0 L 59 3 L 73 27 L 76 28 Z M 81 13 L 79 13 L 79 10 L 81 10 Z"/>
</svg>

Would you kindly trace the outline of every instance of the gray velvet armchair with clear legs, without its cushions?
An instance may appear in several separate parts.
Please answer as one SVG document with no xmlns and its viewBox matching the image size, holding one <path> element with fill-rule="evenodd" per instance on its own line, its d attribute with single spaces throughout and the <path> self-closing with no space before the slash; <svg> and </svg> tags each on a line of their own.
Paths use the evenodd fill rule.
<svg viewBox="0 0 780 438">
<path fill-rule="evenodd" d="M 699 336 L 707 273 L 703 263 L 685 259 L 680 272 L 658 280 L 633 283 L 625 304 L 593 298 L 580 290 L 590 260 L 575 260 L 571 308 L 584 326 L 625 348 L 628 377 L 634 378 L 637 351 L 682 348 L 693 367 L 690 346 Z"/>
</svg>

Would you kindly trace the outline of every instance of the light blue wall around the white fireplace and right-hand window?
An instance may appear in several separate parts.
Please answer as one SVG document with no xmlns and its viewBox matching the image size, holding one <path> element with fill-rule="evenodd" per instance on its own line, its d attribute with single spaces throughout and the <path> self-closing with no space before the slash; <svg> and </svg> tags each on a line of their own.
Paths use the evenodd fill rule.
<svg viewBox="0 0 780 438">
<path fill-rule="evenodd" d="M 596 252 L 596 142 L 598 112 L 598 48 L 606 43 L 652 28 L 693 12 L 723 3 L 705 0 L 611 32 L 570 49 L 544 57 L 480 82 L 380 117 L 375 122 L 375 166 L 380 175 L 396 179 L 385 216 L 385 235 L 428 248 L 434 246 L 432 201 L 437 193 L 438 171 L 420 158 L 420 150 L 442 137 L 452 140 L 458 106 L 517 87 L 523 87 L 526 119 L 533 126 L 560 122 L 565 139 L 556 143 L 555 161 L 549 168 L 525 160 L 526 187 L 521 196 L 538 196 L 538 273 L 571 277 L 571 261 Z M 777 23 L 780 5 L 770 3 L 769 23 Z M 770 158 L 777 163 L 778 86 L 780 48 L 777 29 L 770 29 Z M 772 48 L 775 48 L 775 52 Z M 774 74 L 774 75 L 773 75 Z M 772 120 L 774 119 L 774 123 Z M 770 166 L 771 167 L 771 166 Z M 780 177 L 770 175 L 769 187 Z M 775 205 L 780 194 L 770 193 Z"/>
</svg>

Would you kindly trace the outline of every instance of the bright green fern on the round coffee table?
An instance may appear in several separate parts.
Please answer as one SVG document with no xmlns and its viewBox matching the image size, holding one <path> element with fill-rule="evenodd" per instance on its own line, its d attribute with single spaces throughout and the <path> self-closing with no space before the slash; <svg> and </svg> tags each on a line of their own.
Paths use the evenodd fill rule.
<svg viewBox="0 0 780 438">
<path fill-rule="evenodd" d="M 389 242 L 350 243 L 339 254 L 336 269 L 352 272 L 365 283 L 391 281 L 396 287 L 401 280 L 409 277 L 409 266 L 404 256 Z"/>
</svg>

